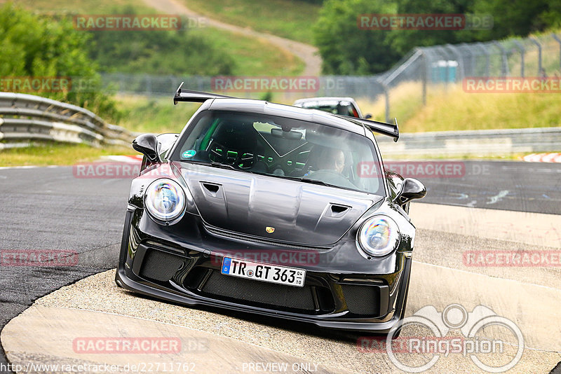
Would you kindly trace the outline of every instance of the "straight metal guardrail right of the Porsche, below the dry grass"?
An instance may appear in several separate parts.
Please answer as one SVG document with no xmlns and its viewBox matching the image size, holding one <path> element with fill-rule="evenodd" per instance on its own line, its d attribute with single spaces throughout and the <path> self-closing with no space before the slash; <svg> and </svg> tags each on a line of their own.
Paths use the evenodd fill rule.
<svg viewBox="0 0 561 374">
<path fill-rule="evenodd" d="M 402 133 L 397 143 L 376 140 L 384 157 L 513 155 L 561 151 L 561 127 Z"/>
</svg>

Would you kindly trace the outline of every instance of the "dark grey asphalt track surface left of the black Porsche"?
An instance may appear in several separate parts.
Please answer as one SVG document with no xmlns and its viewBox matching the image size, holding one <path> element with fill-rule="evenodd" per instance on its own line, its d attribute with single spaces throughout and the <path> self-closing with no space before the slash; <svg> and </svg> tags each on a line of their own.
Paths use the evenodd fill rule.
<svg viewBox="0 0 561 374">
<path fill-rule="evenodd" d="M 0 265 L 2 327 L 36 298 L 116 267 L 129 188 L 126 179 L 76 179 L 72 167 L 0 169 L 1 249 L 79 254 L 66 268 Z"/>
</svg>

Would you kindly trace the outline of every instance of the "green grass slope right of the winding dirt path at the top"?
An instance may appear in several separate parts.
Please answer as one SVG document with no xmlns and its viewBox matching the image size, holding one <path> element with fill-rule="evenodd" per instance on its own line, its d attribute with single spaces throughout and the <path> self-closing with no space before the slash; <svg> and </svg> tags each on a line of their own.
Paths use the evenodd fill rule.
<svg viewBox="0 0 561 374">
<path fill-rule="evenodd" d="M 313 44 L 311 25 L 321 8 L 298 0 L 182 0 L 210 18 Z"/>
</svg>

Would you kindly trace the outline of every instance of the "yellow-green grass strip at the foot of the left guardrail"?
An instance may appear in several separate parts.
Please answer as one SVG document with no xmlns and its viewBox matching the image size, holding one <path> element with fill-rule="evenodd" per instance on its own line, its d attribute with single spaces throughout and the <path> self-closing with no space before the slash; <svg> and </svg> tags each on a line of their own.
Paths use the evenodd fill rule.
<svg viewBox="0 0 561 374">
<path fill-rule="evenodd" d="M 0 167 L 2 166 L 48 166 L 73 165 L 76 162 L 90 162 L 103 155 L 133 155 L 132 147 L 95 148 L 83 144 L 45 143 L 27 148 L 4 149 L 0 151 Z"/>
</svg>

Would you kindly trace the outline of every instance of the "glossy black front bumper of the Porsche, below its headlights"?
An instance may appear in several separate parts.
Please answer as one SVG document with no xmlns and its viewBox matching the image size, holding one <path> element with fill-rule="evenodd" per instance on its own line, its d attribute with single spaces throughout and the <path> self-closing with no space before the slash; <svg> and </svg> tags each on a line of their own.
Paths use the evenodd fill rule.
<svg viewBox="0 0 561 374">
<path fill-rule="evenodd" d="M 320 254 L 313 257 L 318 263 L 289 265 L 306 268 L 304 287 L 294 287 L 222 275 L 224 251 L 178 245 L 165 235 L 156 237 L 147 231 L 151 230 L 142 223 L 142 209 L 130 209 L 116 272 L 116 283 L 130 291 L 182 305 L 221 307 L 370 333 L 388 333 L 403 316 L 410 252 L 391 255 L 395 268 L 386 274 L 353 273 L 333 265 L 330 270 L 327 261 L 322 261 L 326 255 Z"/>
</svg>

